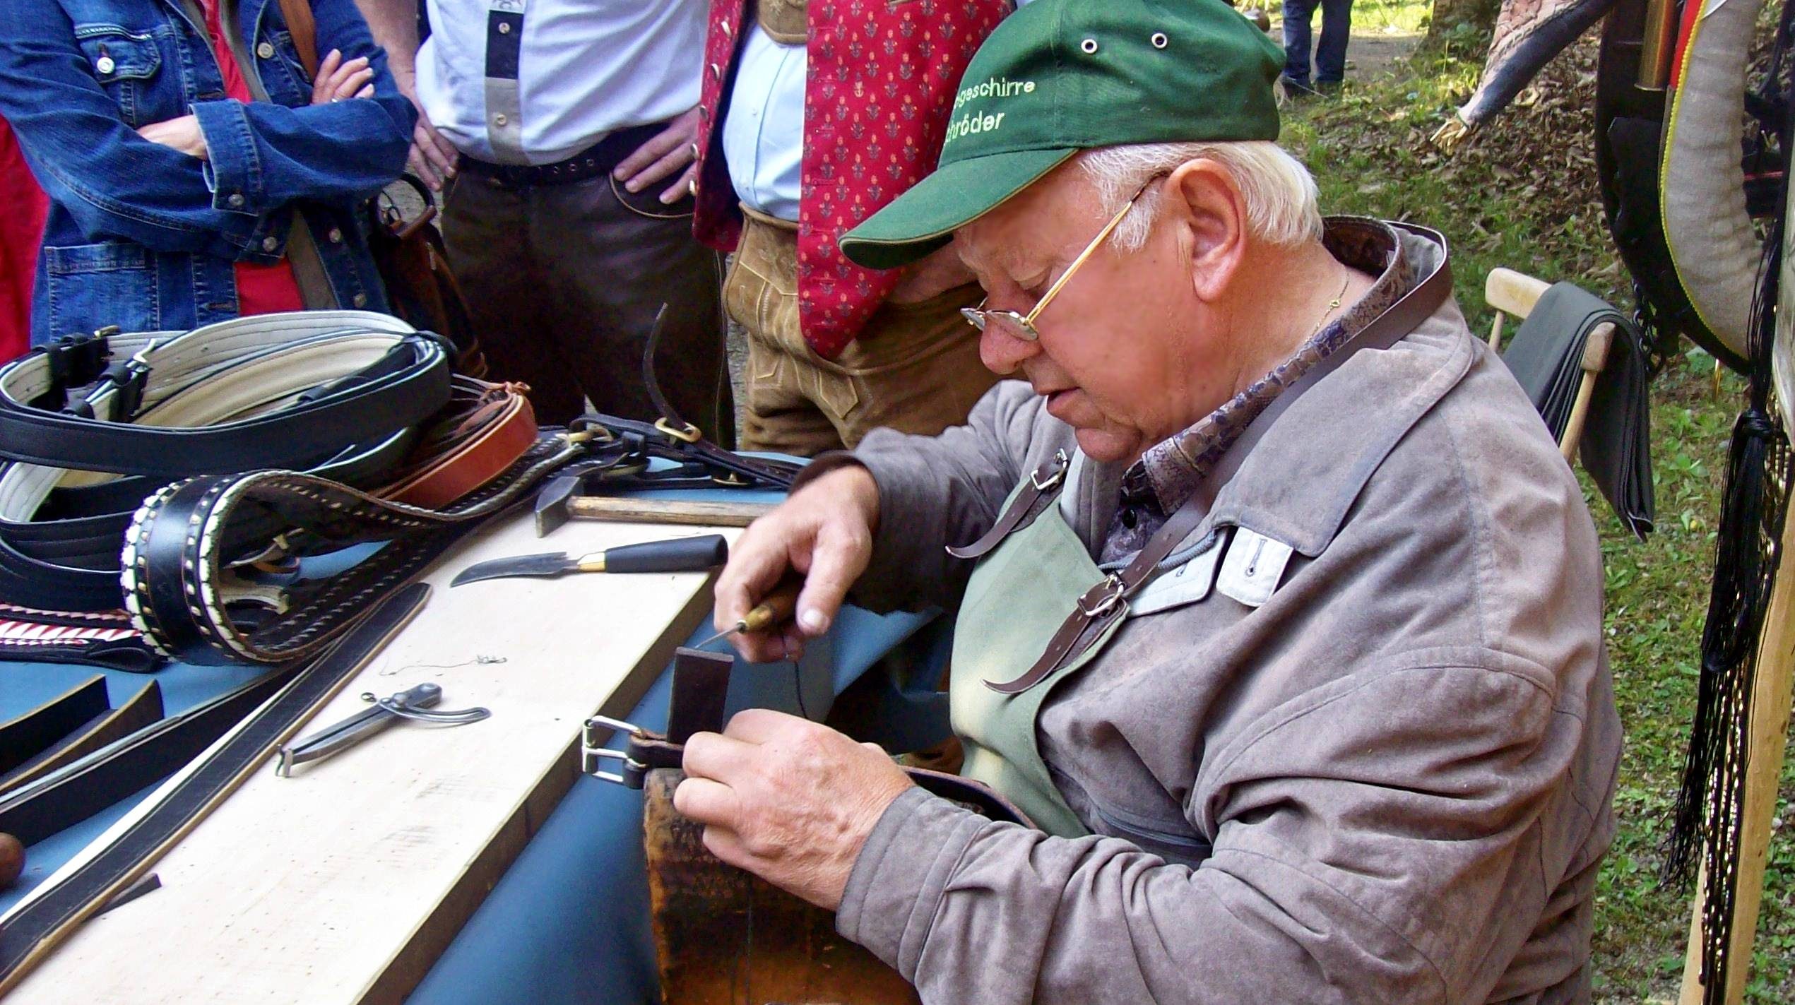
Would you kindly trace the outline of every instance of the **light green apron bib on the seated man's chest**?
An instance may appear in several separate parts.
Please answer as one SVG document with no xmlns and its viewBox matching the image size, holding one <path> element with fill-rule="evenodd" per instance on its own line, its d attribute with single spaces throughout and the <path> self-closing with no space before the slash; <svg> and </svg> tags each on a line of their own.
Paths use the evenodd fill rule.
<svg viewBox="0 0 1795 1005">
<path fill-rule="evenodd" d="M 1027 479 L 1018 485 L 1011 499 L 1027 485 Z M 1054 501 L 978 562 L 953 630 L 950 709 L 953 732 L 966 747 L 960 773 L 994 788 L 1036 826 L 1059 836 L 1091 831 L 1054 788 L 1036 747 L 1034 723 L 1054 687 L 1095 657 L 1124 619 L 1021 695 L 1000 695 L 985 687 L 985 680 L 1014 680 L 1034 666 L 1079 596 L 1102 578 Z"/>
</svg>

